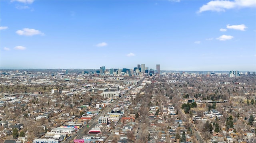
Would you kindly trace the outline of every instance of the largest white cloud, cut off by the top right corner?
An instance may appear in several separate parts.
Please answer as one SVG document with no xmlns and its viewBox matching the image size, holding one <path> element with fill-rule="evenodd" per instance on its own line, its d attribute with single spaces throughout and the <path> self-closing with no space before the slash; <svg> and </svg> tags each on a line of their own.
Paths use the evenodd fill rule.
<svg viewBox="0 0 256 143">
<path fill-rule="evenodd" d="M 232 8 L 256 7 L 256 0 L 214 0 L 199 8 L 199 13 L 204 11 L 225 12 Z"/>
</svg>

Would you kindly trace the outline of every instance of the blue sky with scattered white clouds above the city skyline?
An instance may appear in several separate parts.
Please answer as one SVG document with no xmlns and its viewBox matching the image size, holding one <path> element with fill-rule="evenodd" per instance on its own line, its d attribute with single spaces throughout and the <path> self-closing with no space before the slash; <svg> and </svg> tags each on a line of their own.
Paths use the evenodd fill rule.
<svg viewBox="0 0 256 143">
<path fill-rule="evenodd" d="M 0 1 L 1 69 L 256 71 L 256 1 Z"/>
</svg>

